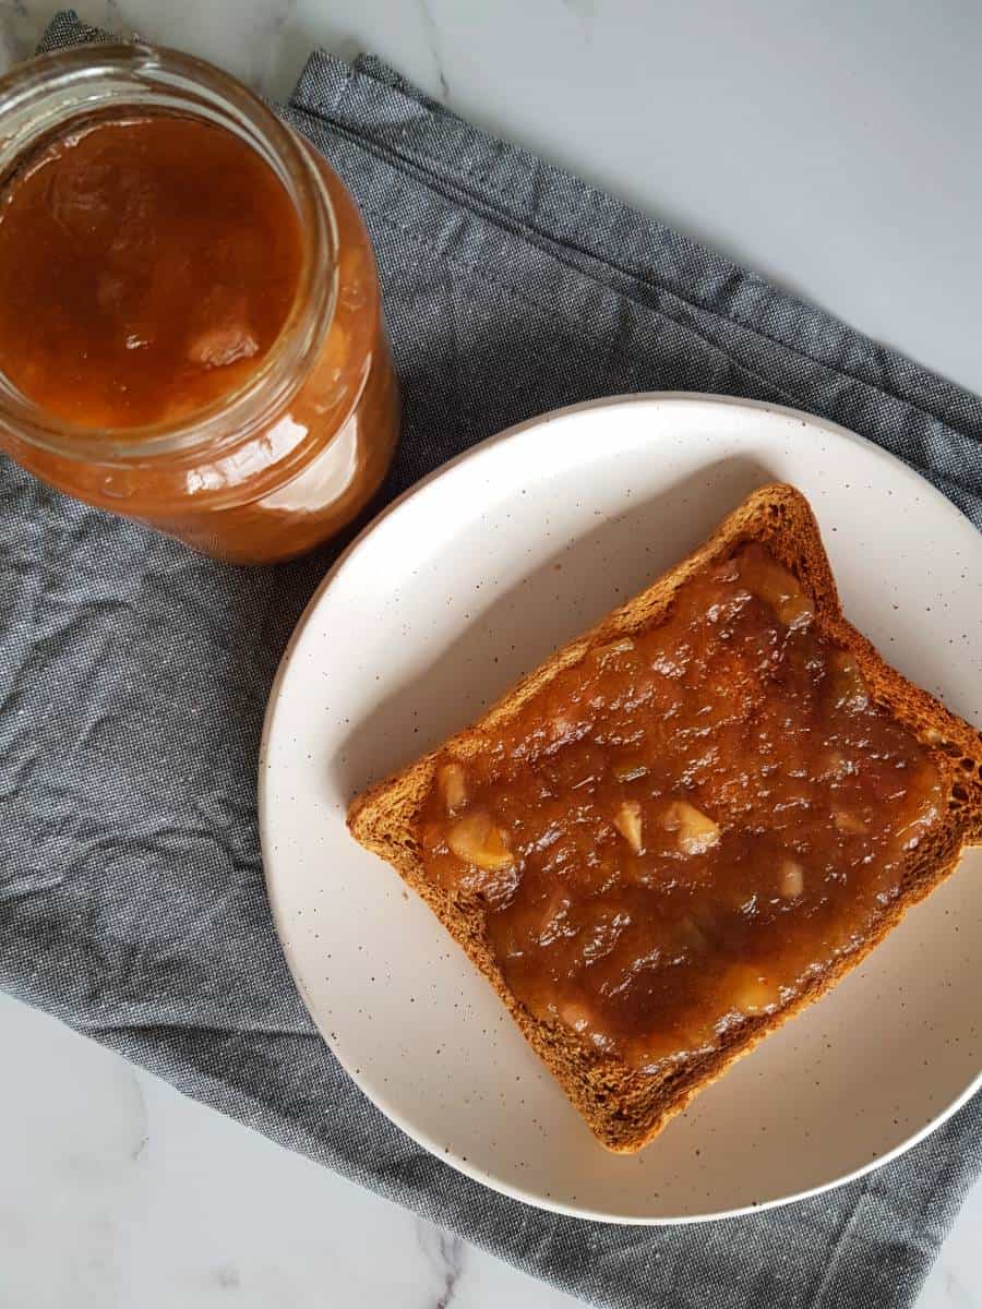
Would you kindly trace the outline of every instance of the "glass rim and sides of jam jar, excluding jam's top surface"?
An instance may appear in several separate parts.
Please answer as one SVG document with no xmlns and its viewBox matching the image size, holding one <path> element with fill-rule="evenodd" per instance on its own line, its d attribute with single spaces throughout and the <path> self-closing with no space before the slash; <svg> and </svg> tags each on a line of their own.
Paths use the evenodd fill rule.
<svg viewBox="0 0 982 1309">
<path fill-rule="evenodd" d="M 190 115 L 261 154 L 302 233 L 284 326 L 237 389 L 173 421 L 97 428 L 45 412 L 0 373 L 0 448 L 79 500 L 234 563 L 304 554 L 350 522 L 391 462 L 398 391 L 368 233 L 336 174 L 232 77 L 170 50 L 47 55 L 0 80 L 0 106 L 3 186 L 75 120 Z"/>
</svg>

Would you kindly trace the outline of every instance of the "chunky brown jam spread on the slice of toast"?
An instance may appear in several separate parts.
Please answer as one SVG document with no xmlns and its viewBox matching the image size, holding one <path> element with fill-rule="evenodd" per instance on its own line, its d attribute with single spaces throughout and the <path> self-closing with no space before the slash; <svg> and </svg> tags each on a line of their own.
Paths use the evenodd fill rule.
<svg viewBox="0 0 982 1309">
<path fill-rule="evenodd" d="M 941 806 L 930 753 L 750 545 L 443 758 L 423 857 L 483 899 L 533 1013 L 655 1072 L 848 952 Z"/>
</svg>

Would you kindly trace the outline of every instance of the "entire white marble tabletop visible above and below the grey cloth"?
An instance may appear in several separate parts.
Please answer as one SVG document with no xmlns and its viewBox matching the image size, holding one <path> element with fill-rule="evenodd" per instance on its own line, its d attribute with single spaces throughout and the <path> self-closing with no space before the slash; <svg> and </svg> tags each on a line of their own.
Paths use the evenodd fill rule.
<svg viewBox="0 0 982 1309">
<path fill-rule="evenodd" d="M 50 0 L 0 0 L 26 55 Z M 283 94 L 369 48 L 522 141 L 982 389 L 982 7 L 90 0 Z M 572 1305 L 0 997 L 1 1309 Z M 919 1309 L 982 1306 L 982 1186 Z"/>
</svg>

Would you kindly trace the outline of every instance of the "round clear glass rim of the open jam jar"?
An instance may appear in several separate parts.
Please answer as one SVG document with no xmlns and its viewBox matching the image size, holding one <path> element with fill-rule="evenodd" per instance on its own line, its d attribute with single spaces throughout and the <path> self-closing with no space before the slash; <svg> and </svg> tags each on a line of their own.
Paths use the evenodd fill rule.
<svg viewBox="0 0 982 1309">
<path fill-rule="evenodd" d="M 101 110 L 113 117 L 151 109 L 206 118 L 237 132 L 274 168 L 304 233 L 293 304 L 274 344 L 241 386 L 174 421 L 98 428 L 48 414 L 0 373 L 0 425 L 62 458 L 100 465 L 190 456 L 202 446 L 215 452 L 247 440 L 299 389 L 334 319 L 338 226 L 309 147 L 229 73 L 194 55 L 141 42 L 75 46 L 31 59 L 0 77 L 0 175 L 43 136 Z M 20 132 L 17 115 L 25 115 Z M 14 130 L 5 131 L 12 120 Z"/>
</svg>

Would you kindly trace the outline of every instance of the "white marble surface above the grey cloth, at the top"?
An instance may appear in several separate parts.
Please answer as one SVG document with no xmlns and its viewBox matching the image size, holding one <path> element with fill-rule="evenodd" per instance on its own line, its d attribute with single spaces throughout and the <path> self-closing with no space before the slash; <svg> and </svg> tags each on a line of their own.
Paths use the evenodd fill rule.
<svg viewBox="0 0 982 1309">
<path fill-rule="evenodd" d="M 371 50 L 457 113 L 982 390 L 975 0 L 76 0 L 285 94 Z M 0 0 L 27 52 L 56 0 Z"/>
</svg>

